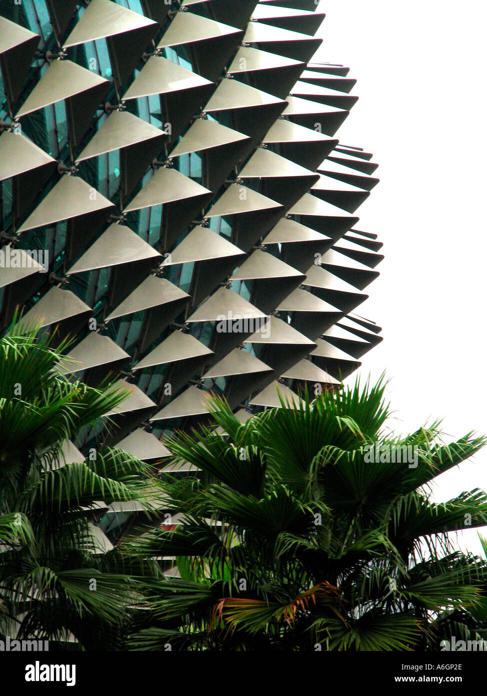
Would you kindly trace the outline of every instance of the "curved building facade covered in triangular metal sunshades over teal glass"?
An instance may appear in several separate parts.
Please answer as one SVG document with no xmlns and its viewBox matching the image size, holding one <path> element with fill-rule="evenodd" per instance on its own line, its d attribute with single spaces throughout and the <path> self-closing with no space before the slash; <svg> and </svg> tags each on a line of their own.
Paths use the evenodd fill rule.
<svg viewBox="0 0 487 696">
<path fill-rule="evenodd" d="M 356 370 L 377 165 L 336 138 L 355 81 L 313 63 L 314 0 L 0 9 L 0 330 L 21 307 L 129 386 L 104 442 L 156 461 L 212 391 L 244 420 Z"/>
</svg>

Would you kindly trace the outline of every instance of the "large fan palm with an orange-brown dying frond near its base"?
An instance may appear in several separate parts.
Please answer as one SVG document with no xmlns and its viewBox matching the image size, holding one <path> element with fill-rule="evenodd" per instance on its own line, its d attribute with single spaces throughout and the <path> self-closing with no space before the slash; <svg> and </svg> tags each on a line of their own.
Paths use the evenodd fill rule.
<svg viewBox="0 0 487 696">
<path fill-rule="evenodd" d="M 167 443 L 201 473 L 163 483 L 181 524 L 122 551 L 177 557 L 181 575 L 154 583 L 135 649 L 439 650 L 459 626 L 482 634 L 487 564 L 452 532 L 486 525 L 487 496 L 438 504 L 431 485 L 486 438 L 445 444 L 439 422 L 395 437 L 384 388 L 306 395 L 243 425 L 214 400 L 210 427 Z M 385 461 L 399 447 L 417 466 Z"/>
</svg>

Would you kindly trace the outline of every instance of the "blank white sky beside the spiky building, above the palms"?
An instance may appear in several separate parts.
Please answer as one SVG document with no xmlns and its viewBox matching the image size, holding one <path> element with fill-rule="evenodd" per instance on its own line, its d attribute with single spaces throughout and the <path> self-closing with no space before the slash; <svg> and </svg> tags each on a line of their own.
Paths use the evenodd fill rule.
<svg viewBox="0 0 487 696">
<path fill-rule="evenodd" d="M 383 342 L 361 375 L 386 369 L 397 432 L 431 417 L 452 439 L 487 432 L 487 3 L 322 0 L 319 10 L 317 56 L 358 80 L 337 137 L 380 165 L 356 227 L 379 235 L 386 259 L 356 313 L 383 327 Z M 438 482 L 436 500 L 486 490 L 487 448 Z M 477 530 L 463 539 L 479 551 Z"/>
</svg>

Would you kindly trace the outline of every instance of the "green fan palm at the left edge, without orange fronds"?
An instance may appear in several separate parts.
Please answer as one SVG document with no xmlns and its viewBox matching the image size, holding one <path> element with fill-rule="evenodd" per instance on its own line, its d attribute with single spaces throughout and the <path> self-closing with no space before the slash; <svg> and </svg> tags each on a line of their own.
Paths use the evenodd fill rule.
<svg viewBox="0 0 487 696">
<path fill-rule="evenodd" d="M 154 476 L 115 448 L 85 461 L 64 456 L 126 391 L 69 381 L 58 369 L 67 344 L 52 345 L 28 326 L 0 339 L 0 634 L 117 649 L 145 607 L 149 571 L 99 548 L 90 519 L 97 501 L 139 500 L 153 512 Z"/>
</svg>

